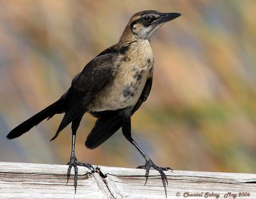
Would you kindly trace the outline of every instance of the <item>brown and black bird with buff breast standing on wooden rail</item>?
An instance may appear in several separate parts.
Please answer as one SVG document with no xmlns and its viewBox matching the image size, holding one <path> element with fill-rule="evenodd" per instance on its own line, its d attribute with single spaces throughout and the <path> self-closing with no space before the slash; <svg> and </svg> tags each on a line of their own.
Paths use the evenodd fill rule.
<svg viewBox="0 0 256 199">
<path fill-rule="evenodd" d="M 150 38 L 165 22 L 176 19 L 180 15 L 180 13 L 163 13 L 156 10 L 145 10 L 132 15 L 117 44 L 93 58 L 72 79 L 70 88 L 60 99 L 20 123 L 8 133 L 6 138 L 17 138 L 43 120 L 65 113 L 51 141 L 72 123 L 72 149 L 67 163 L 67 179 L 70 178 L 70 171 L 74 168 L 76 191 L 77 166 L 95 171 L 91 164 L 77 161 L 75 154 L 77 129 L 83 115 L 89 113 L 97 119 L 84 143 L 87 148 L 99 147 L 121 128 L 124 137 L 145 159 L 145 164 L 138 168 L 144 169 L 146 176 L 150 168 L 154 168 L 167 182 L 163 171 L 172 171 L 172 169 L 154 164 L 134 141 L 131 135 L 131 116 L 147 100 L 152 87 L 154 57 Z"/>
</svg>

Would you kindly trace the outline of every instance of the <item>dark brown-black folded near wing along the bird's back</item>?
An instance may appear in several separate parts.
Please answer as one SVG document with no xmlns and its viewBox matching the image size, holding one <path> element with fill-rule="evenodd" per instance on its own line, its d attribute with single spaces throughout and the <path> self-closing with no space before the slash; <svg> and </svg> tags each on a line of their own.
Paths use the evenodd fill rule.
<svg viewBox="0 0 256 199">
<path fill-rule="evenodd" d="M 97 56 L 73 79 L 68 92 L 63 96 L 65 115 L 52 139 L 55 139 L 77 115 L 84 114 L 92 100 L 111 82 L 115 56 L 113 53 Z"/>
</svg>

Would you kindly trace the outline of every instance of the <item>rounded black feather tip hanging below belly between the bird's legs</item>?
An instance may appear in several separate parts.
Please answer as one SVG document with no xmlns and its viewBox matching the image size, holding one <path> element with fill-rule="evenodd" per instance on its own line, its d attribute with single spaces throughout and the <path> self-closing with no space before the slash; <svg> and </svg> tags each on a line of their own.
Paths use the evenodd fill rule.
<svg viewBox="0 0 256 199">
<path fill-rule="evenodd" d="M 109 111 L 108 113 L 99 116 L 95 126 L 90 134 L 88 134 L 85 146 L 93 149 L 99 147 L 104 141 L 112 136 L 122 126 L 122 118 L 115 112 Z"/>
</svg>

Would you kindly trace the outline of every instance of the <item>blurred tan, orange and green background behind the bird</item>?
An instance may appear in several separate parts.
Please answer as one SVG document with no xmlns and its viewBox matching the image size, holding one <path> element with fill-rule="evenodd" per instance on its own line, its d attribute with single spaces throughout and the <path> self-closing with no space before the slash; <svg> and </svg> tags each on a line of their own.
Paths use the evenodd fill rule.
<svg viewBox="0 0 256 199">
<path fill-rule="evenodd" d="M 256 1 L 65 1 L 0 3 L 0 161 L 65 164 L 70 125 L 63 115 L 6 140 L 16 125 L 57 100 L 99 52 L 118 42 L 140 10 L 180 12 L 152 36 L 154 83 L 132 117 L 132 133 L 159 166 L 256 173 Z M 84 141 L 95 118 L 84 115 L 76 155 L 82 162 L 144 164 L 118 131 L 95 150 Z"/>
</svg>

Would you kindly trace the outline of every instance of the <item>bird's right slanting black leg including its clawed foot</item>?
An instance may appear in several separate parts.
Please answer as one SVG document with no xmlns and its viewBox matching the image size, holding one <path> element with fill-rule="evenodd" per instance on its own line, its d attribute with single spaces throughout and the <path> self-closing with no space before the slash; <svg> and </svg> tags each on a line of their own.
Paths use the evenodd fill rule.
<svg viewBox="0 0 256 199">
<path fill-rule="evenodd" d="M 122 120 L 122 132 L 125 136 L 125 138 L 130 142 L 132 143 L 132 145 L 134 145 L 134 147 L 137 148 L 137 150 L 140 152 L 140 154 L 144 157 L 146 163 L 143 165 L 143 166 L 138 166 L 137 168 L 142 168 L 142 169 L 145 169 L 146 170 L 146 177 L 148 177 L 148 174 L 149 174 L 149 170 L 150 168 L 154 168 L 155 170 L 157 170 L 162 179 L 166 181 L 166 184 L 168 183 L 167 182 L 167 177 L 165 175 L 165 173 L 163 171 L 173 171 L 171 168 L 169 167 L 160 167 L 160 166 L 157 166 L 156 164 L 153 163 L 153 161 L 148 157 L 147 154 L 145 154 L 145 152 L 143 152 L 143 150 L 139 147 L 139 145 L 136 143 L 136 141 L 134 141 L 134 139 L 132 139 L 132 136 L 131 136 L 131 117 L 127 117 L 127 118 L 124 118 Z"/>
</svg>

